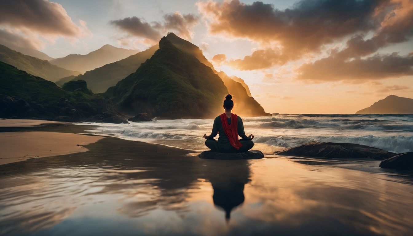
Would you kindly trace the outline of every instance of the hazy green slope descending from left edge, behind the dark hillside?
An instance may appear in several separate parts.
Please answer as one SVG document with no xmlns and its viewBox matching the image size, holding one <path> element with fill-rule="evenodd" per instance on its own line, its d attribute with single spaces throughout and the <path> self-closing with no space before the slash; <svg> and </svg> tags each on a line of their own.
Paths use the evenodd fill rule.
<svg viewBox="0 0 413 236">
<path fill-rule="evenodd" d="M 24 70 L 34 76 L 42 77 L 46 80 L 57 81 L 58 79 L 71 75 L 81 74 L 80 72 L 71 71 L 50 64 L 46 60 L 40 60 L 36 57 L 23 55 L 7 48 L 5 45 L 0 45 L 0 62 L 5 62 Z"/>
</svg>

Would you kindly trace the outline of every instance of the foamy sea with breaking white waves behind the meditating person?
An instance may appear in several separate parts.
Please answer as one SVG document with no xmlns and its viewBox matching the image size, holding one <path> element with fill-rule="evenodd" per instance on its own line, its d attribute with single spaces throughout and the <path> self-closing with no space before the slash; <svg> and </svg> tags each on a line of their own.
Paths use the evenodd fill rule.
<svg viewBox="0 0 413 236">
<path fill-rule="evenodd" d="M 255 143 L 289 148 L 311 141 L 358 143 L 390 152 L 413 151 L 413 114 L 278 114 L 243 117 L 245 132 Z M 204 133 L 211 133 L 211 119 L 157 120 L 131 124 L 96 125 L 88 130 L 135 141 L 204 150 Z M 188 145 L 189 143 L 189 145 Z"/>
</svg>

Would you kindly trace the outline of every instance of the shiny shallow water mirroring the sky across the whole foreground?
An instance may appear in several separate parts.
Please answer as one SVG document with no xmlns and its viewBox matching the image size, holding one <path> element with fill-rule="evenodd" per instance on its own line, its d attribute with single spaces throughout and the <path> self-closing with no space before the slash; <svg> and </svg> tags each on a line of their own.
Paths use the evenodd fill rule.
<svg viewBox="0 0 413 236">
<path fill-rule="evenodd" d="M 2 235 L 412 235 L 412 172 L 104 138 L 0 166 Z"/>
</svg>

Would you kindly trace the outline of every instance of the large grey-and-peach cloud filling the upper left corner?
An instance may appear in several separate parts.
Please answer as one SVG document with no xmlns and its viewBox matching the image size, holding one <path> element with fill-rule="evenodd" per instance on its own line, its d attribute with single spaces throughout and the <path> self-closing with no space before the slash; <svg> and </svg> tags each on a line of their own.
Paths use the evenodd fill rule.
<svg viewBox="0 0 413 236">
<path fill-rule="evenodd" d="M 75 24 L 62 5 L 47 0 L 0 1 L 0 42 L 41 49 L 59 37 L 74 44 L 93 33 L 83 20 Z"/>
</svg>

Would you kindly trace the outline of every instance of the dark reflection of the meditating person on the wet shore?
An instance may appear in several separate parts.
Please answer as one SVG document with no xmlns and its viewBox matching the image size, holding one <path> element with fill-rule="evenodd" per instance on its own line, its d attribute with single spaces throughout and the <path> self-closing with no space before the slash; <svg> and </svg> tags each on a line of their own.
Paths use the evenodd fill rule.
<svg viewBox="0 0 413 236">
<path fill-rule="evenodd" d="M 214 188 L 214 205 L 222 208 L 229 220 L 231 211 L 244 202 L 244 185 L 250 181 L 249 166 L 247 160 L 223 162 L 208 163 L 207 178 Z"/>
</svg>

